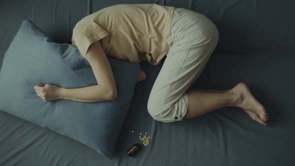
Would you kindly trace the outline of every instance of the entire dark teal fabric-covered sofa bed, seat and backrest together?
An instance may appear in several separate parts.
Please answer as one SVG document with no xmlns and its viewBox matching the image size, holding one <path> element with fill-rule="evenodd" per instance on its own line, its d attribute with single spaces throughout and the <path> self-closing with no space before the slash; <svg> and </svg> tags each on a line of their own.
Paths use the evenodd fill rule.
<svg viewBox="0 0 295 166">
<path fill-rule="evenodd" d="M 139 0 L 28 0 L 28 3 L 17 0 L 0 1 L 0 13 L 5 15 L 0 17 L 0 21 L 6 22 L 0 27 L 0 64 L 24 19 L 31 19 L 54 41 L 69 43 L 72 27 L 87 13 L 111 5 L 110 3 L 128 2 L 139 3 Z M 265 127 L 259 124 L 236 107 L 221 108 L 181 122 L 156 121 L 148 114 L 146 105 L 162 64 L 152 66 L 142 62 L 140 65 L 147 78 L 135 86 L 133 100 L 111 160 L 69 137 L 0 111 L 1 166 L 294 165 L 295 45 L 291 38 L 295 37 L 295 32 L 291 29 L 294 29 L 295 24 L 286 15 L 294 15 L 295 11 L 291 11 L 290 6 L 295 2 L 140 1 L 152 2 L 199 10 L 216 23 L 221 37 L 220 44 L 218 43 L 216 51 L 192 88 L 227 89 L 238 82 L 245 82 L 253 95 L 265 106 L 269 115 L 268 125 Z M 263 17 L 261 14 L 264 12 L 259 10 L 263 6 L 271 20 L 266 16 L 263 21 L 255 20 Z M 245 17 L 249 16 L 244 19 L 244 24 L 236 23 L 240 15 L 232 15 L 242 7 L 255 8 L 256 11 L 244 13 Z M 279 12 L 271 12 L 274 8 Z M 232 16 L 228 17 L 228 14 Z M 272 21 L 277 20 L 283 25 L 273 24 Z M 254 23 L 247 25 L 251 21 Z M 261 22 L 264 24 L 259 24 Z M 269 24 L 273 26 L 263 31 L 263 27 Z M 234 32 L 232 28 L 244 33 L 235 32 L 237 35 L 230 35 Z M 273 33 L 278 30 L 279 34 Z M 253 34 L 254 37 L 248 34 Z M 244 38 L 240 40 L 239 37 Z M 131 130 L 135 132 L 132 133 Z M 147 146 L 141 143 L 142 149 L 134 157 L 129 157 L 126 150 L 140 142 L 139 132 L 148 132 L 151 140 Z"/>
</svg>

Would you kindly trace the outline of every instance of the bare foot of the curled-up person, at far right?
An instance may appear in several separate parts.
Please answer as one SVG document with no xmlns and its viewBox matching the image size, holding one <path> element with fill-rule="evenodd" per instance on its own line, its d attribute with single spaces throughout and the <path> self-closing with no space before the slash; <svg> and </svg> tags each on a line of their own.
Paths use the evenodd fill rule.
<svg viewBox="0 0 295 166">
<path fill-rule="evenodd" d="M 266 125 L 268 115 L 265 108 L 253 97 L 247 85 L 238 83 L 231 90 L 239 96 L 236 106 L 242 108 L 253 120 Z"/>
</svg>

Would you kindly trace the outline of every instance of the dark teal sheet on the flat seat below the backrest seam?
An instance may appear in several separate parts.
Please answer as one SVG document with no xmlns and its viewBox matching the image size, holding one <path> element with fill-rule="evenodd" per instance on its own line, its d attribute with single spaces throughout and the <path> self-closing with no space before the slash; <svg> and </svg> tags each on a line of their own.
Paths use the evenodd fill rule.
<svg viewBox="0 0 295 166">
<path fill-rule="evenodd" d="M 147 79 L 135 87 L 112 160 L 75 140 L 1 112 L 0 165 L 293 165 L 293 53 L 214 54 L 194 85 L 226 89 L 240 81 L 248 83 L 269 114 L 266 127 L 235 107 L 181 122 L 155 121 L 146 103 L 161 65 L 143 62 Z M 130 158 L 125 151 L 140 142 L 139 132 L 148 132 L 150 143 L 141 144 L 144 148 Z"/>
</svg>

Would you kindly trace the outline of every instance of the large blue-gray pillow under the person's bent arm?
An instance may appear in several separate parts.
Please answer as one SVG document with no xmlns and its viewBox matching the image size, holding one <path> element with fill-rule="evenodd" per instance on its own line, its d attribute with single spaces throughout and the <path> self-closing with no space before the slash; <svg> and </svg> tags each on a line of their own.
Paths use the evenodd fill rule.
<svg viewBox="0 0 295 166">
<path fill-rule="evenodd" d="M 107 58 L 117 86 L 115 100 L 44 101 L 36 94 L 34 85 L 78 88 L 97 81 L 77 47 L 55 43 L 31 20 L 23 20 L 4 54 L 0 109 L 69 136 L 111 158 L 132 100 L 140 64 Z"/>
</svg>

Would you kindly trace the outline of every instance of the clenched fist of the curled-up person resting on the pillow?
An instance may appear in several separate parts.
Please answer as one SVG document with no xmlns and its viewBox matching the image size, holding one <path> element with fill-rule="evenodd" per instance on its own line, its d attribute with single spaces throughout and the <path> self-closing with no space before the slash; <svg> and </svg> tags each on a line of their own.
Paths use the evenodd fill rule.
<svg viewBox="0 0 295 166">
<path fill-rule="evenodd" d="M 36 84 L 34 89 L 44 101 L 60 99 L 60 87 L 52 84 Z"/>
</svg>

